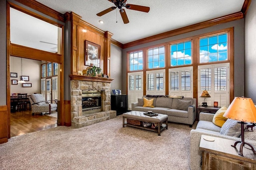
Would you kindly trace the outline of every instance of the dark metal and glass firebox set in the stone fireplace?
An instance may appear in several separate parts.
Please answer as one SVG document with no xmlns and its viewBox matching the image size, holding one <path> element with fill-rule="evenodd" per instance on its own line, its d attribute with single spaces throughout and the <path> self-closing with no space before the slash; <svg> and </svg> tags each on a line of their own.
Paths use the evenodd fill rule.
<svg viewBox="0 0 256 170">
<path fill-rule="evenodd" d="M 101 108 L 100 90 L 82 90 L 82 111 Z"/>
</svg>

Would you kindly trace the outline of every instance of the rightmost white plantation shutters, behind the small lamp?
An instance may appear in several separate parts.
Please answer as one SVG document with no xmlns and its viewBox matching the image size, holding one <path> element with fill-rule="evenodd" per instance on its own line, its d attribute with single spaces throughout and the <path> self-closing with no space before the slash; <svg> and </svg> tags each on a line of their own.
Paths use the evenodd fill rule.
<svg viewBox="0 0 256 170">
<path fill-rule="evenodd" d="M 205 98 L 208 106 L 218 102 L 218 106 L 229 106 L 229 63 L 198 66 L 198 105 L 202 105 L 204 98 L 200 97 L 203 90 L 207 90 L 210 98 Z"/>
</svg>

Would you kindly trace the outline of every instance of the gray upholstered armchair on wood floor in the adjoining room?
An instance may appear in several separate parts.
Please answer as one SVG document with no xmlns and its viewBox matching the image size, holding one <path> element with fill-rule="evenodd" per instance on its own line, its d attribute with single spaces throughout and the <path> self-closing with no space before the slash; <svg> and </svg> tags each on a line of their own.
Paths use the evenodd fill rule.
<svg viewBox="0 0 256 170">
<path fill-rule="evenodd" d="M 35 113 L 41 113 L 43 112 L 49 112 L 51 114 L 52 111 L 57 110 L 57 104 L 56 101 L 55 104 L 51 104 L 49 101 L 45 101 L 42 94 L 31 94 L 31 96 L 28 98 L 31 103 L 32 108 L 32 115 Z"/>
</svg>

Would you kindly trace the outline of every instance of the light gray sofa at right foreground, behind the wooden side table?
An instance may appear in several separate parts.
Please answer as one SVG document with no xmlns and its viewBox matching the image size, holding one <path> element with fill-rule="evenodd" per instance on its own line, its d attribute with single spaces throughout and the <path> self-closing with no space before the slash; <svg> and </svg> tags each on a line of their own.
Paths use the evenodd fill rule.
<svg viewBox="0 0 256 170">
<path fill-rule="evenodd" d="M 220 134 L 221 127 L 218 127 L 212 123 L 214 114 L 203 113 L 199 115 L 199 121 L 196 129 L 190 131 L 190 169 L 200 170 L 201 169 L 201 152 L 199 150 L 201 135 L 208 135 L 213 137 L 219 137 L 224 139 L 230 139 L 234 141 L 241 141 L 240 137 L 232 137 L 228 135 Z M 239 124 L 239 126 L 241 126 Z M 240 129 L 238 129 L 241 131 Z M 254 127 L 253 132 L 244 132 L 244 140 L 251 145 L 256 146 L 256 127 Z M 225 145 L 225 144 L 223 144 Z M 240 144 L 238 145 L 240 146 Z M 227 146 L 231 147 L 231 146 Z"/>
</svg>

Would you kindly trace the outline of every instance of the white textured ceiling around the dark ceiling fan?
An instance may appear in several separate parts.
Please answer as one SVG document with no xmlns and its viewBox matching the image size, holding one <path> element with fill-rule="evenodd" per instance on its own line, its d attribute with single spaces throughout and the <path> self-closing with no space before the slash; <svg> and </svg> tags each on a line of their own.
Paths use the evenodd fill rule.
<svg viewBox="0 0 256 170">
<path fill-rule="evenodd" d="M 128 4 L 148 6 L 150 11 L 145 13 L 125 8 L 130 22 L 124 24 L 116 10 L 101 17 L 96 16 L 97 13 L 114 6 L 108 0 L 37 1 L 62 14 L 72 11 L 82 16 L 82 20 L 113 33 L 112 39 L 123 44 L 239 12 L 244 3 L 244 0 L 127 0 Z M 100 24 L 99 20 L 103 20 L 104 24 Z"/>
</svg>

